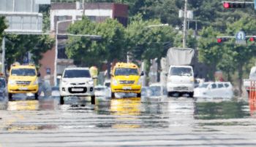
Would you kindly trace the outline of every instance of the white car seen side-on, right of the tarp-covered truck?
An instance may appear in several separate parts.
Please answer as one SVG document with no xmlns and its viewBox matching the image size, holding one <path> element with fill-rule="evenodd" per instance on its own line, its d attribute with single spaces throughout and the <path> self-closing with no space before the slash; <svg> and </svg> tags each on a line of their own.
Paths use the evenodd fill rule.
<svg viewBox="0 0 256 147">
<path fill-rule="evenodd" d="M 230 82 L 205 82 L 195 88 L 195 98 L 232 98 L 233 86 Z"/>
</svg>

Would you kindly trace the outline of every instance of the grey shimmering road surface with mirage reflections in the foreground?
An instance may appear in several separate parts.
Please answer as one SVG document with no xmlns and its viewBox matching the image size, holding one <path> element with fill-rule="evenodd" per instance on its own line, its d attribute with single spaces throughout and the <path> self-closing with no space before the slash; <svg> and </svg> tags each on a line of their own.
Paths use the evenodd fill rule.
<svg viewBox="0 0 256 147">
<path fill-rule="evenodd" d="M 246 98 L 0 101 L 0 146 L 256 146 Z"/>
</svg>

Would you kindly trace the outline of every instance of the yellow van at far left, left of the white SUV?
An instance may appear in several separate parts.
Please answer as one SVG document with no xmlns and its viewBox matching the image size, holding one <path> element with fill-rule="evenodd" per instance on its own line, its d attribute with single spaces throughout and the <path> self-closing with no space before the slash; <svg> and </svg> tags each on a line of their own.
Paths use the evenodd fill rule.
<svg viewBox="0 0 256 147">
<path fill-rule="evenodd" d="M 38 100 L 38 83 L 40 73 L 34 65 L 12 65 L 10 69 L 10 76 L 8 78 L 8 98 L 12 100 L 12 94 L 16 93 L 34 93 L 36 100 Z"/>
</svg>

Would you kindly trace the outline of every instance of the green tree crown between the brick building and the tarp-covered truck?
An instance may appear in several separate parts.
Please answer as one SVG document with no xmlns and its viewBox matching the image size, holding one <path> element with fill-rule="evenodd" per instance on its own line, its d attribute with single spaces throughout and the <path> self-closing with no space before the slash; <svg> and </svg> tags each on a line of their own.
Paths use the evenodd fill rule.
<svg viewBox="0 0 256 147">
<path fill-rule="evenodd" d="M 148 27 L 159 24 L 160 20 L 143 21 L 142 15 L 134 17 L 127 28 L 127 38 L 135 60 L 151 60 L 166 56 L 168 47 L 165 47 L 165 44 L 173 42 L 175 32 L 171 26 Z M 165 54 L 162 54 L 163 52 Z"/>
</svg>

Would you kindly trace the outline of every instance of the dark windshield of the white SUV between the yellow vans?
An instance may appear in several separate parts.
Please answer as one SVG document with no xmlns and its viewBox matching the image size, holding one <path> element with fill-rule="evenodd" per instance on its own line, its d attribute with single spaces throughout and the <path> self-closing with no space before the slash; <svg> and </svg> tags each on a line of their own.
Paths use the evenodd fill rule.
<svg viewBox="0 0 256 147">
<path fill-rule="evenodd" d="M 89 70 L 66 70 L 63 78 L 91 78 Z"/>
</svg>

